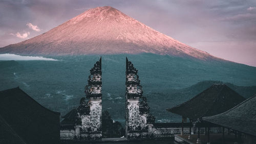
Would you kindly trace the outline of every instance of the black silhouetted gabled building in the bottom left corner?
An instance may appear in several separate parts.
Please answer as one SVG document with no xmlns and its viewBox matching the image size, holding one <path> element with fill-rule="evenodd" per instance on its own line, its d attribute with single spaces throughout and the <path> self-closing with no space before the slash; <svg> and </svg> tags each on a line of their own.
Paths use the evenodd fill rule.
<svg viewBox="0 0 256 144">
<path fill-rule="evenodd" d="M 0 143 L 12 143 L 11 138 L 25 143 L 59 143 L 59 115 L 19 87 L 0 91 L 0 125 L 12 134 Z"/>
</svg>

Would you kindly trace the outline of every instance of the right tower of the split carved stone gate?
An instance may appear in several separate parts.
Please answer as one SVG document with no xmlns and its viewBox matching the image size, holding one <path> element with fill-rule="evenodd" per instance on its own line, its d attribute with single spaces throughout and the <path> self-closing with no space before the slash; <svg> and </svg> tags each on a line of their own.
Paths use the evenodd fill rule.
<svg viewBox="0 0 256 144">
<path fill-rule="evenodd" d="M 150 114 L 150 107 L 147 105 L 146 98 L 142 97 L 143 90 L 137 75 L 138 70 L 127 58 L 125 73 L 126 137 L 130 139 L 148 137 L 151 135 L 148 126 L 155 123 L 155 117 Z"/>
</svg>

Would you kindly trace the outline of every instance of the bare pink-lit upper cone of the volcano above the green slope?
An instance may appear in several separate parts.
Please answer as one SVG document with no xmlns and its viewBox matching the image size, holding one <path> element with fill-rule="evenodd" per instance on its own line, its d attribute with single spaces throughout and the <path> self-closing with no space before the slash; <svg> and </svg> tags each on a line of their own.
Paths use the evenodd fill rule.
<svg viewBox="0 0 256 144">
<path fill-rule="evenodd" d="M 50 31 L 0 48 L 24 55 L 90 55 L 153 53 L 201 60 L 218 59 L 164 35 L 121 11 L 89 9 Z"/>
</svg>

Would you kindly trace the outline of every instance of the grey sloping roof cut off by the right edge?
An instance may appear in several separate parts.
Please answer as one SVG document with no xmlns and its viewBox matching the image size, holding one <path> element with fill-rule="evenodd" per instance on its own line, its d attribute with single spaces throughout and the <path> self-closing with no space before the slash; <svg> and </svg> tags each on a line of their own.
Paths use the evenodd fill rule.
<svg viewBox="0 0 256 144">
<path fill-rule="evenodd" d="M 256 94 L 226 112 L 203 120 L 256 136 Z"/>
</svg>

